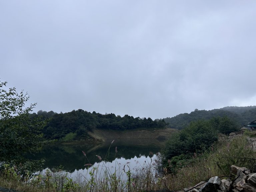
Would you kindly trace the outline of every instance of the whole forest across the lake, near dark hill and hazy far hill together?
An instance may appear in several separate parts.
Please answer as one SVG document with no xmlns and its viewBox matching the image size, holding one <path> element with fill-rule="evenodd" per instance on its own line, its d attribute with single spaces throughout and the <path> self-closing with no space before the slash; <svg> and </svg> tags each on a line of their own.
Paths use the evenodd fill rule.
<svg viewBox="0 0 256 192">
<path fill-rule="evenodd" d="M 132 129 L 162 129 L 170 127 L 174 129 L 184 129 L 190 122 L 197 120 L 209 120 L 213 117 L 228 117 L 235 127 L 247 125 L 256 119 L 256 106 L 248 107 L 224 107 L 213 110 L 195 109 L 191 113 L 183 113 L 172 118 L 152 120 L 151 118 L 140 118 L 125 115 L 100 114 L 95 111 L 87 112 L 82 109 L 73 110 L 68 113 L 56 113 L 53 111 L 38 111 L 32 113 L 30 117 L 41 117 L 48 123 L 43 129 L 45 138 L 61 139 L 68 134 L 71 139 L 89 138 L 88 131 L 97 129 L 112 130 L 132 130 Z"/>
</svg>

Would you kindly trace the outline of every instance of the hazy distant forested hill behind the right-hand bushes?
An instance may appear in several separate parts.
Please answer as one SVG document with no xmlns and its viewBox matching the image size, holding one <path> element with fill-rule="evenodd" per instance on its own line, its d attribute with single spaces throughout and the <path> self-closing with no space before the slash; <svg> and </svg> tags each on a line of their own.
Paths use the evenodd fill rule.
<svg viewBox="0 0 256 192">
<path fill-rule="evenodd" d="M 231 106 L 209 111 L 195 109 L 195 111 L 191 113 L 182 113 L 171 118 L 163 118 L 163 120 L 169 123 L 168 127 L 170 128 L 183 129 L 188 126 L 191 121 L 223 116 L 232 119 L 237 126 L 247 125 L 248 122 L 256 120 L 256 106 Z"/>
</svg>

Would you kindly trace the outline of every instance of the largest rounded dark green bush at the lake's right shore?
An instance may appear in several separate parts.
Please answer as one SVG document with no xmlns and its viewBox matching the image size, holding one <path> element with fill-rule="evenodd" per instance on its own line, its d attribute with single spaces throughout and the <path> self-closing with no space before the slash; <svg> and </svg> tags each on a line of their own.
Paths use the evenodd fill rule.
<svg viewBox="0 0 256 192">
<path fill-rule="evenodd" d="M 170 161 L 183 165 L 194 154 L 207 151 L 218 140 L 217 130 L 206 120 L 191 122 L 188 127 L 171 136 L 163 149 L 163 165 L 170 167 Z M 169 162 L 168 162 L 169 160 Z M 182 161 L 181 161 L 182 160 Z M 172 167 L 173 168 L 173 167 Z"/>
</svg>

